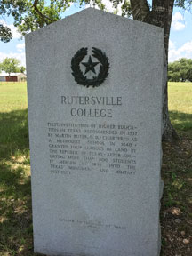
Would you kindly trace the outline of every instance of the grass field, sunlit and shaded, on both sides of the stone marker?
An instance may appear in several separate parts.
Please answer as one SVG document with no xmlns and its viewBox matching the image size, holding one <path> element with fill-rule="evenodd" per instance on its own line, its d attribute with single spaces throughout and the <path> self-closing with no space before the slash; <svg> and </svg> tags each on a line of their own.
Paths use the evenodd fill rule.
<svg viewBox="0 0 192 256">
<path fill-rule="evenodd" d="M 0 82 L 0 256 L 38 255 L 33 252 L 27 108 L 26 83 Z M 192 83 L 169 84 L 169 108 L 180 140 L 163 145 L 161 255 L 191 256 Z"/>
</svg>

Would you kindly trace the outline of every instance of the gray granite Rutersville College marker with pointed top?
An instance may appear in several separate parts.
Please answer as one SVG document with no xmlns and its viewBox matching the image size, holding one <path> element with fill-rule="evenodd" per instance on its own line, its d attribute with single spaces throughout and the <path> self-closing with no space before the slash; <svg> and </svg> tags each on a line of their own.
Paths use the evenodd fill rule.
<svg viewBox="0 0 192 256">
<path fill-rule="evenodd" d="M 35 252 L 159 254 L 163 40 L 92 8 L 26 36 Z"/>
</svg>

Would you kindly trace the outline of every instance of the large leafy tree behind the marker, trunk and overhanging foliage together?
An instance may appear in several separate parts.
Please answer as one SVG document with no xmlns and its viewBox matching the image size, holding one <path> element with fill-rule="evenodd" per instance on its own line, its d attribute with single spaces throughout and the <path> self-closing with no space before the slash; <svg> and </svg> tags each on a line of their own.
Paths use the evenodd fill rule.
<svg viewBox="0 0 192 256">
<path fill-rule="evenodd" d="M 50 23 L 60 20 L 61 13 L 73 2 L 80 5 L 89 4 L 90 0 L 51 0 L 49 4 L 45 0 L 2 0 L 0 4 L 0 15 L 12 14 L 14 25 L 19 28 L 22 35 L 28 31 L 34 31 Z M 183 9 L 191 9 L 192 0 L 152 0 L 152 5 L 147 0 L 109 0 L 116 9 L 118 4 L 122 4 L 122 15 L 132 15 L 134 20 L 140 20 L 149 24 L 164 28 L 164 140 L 172 140 L 177 137 L 172 128 L 168 115 L 167 98 L 167 65 L 168 65 L 168 44 L 170 28 L 172 22 L 173 5 L 180 6 Z M 100 9 L 105 10 L 105 4 L 102 0 L 93 0 L 93 5 L 98 5 Z M 3 29 L 3 30 L 2 30 Z M 0 28 L 1 40 L 4 42 L 11 39 L 10 30 L 4 27 Z M 184 75 L 184 74 L 183 74 Z"/>
</svg>

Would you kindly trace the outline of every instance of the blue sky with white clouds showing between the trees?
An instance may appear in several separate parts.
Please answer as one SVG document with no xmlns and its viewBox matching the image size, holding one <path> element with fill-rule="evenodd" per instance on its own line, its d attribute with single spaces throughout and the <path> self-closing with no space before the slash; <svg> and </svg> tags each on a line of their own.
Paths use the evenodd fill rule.
<svg viewBox="0 0 192 256">
<path fill-rule="evenodd" d="M 150 1 L 149 1 L 150 2 Z M 90 4 L 92 6 L 92 4 Z M 112 12 L 111 4 L 107 4 L 108 12 Z M 78 4 L 73 4 L 64 13 L 63 17 L 81 11 Z M 119 9 L 120 10 L 120 9 Z M 121 14 L 121 12 L 119 12 Z M 25 42 L 20 37 L 17 28 L 13 26 L 10 17 L 0 16 L 0 24 L 8 25 L 13 32 L 13 39 L 9 43 L 0 42 L 0 62 L 4 58 L 17 58 L 20 66 L 26 67 Z M 169 42 L 169 62 L 180 60 L 181 58 L 192 59 L 192 13 L 174 7 L 172 15 L 172 28 Z"/>
</svg>

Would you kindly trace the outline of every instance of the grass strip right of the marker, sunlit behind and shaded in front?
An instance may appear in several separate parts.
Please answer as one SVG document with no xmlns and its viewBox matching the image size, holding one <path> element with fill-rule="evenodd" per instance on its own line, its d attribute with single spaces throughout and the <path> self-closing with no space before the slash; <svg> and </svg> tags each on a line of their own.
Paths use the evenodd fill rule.
<svg viewBox="0 0 192 256">
<path fill-rule="evenodd" d="M 163 143 L 162 256 L 192 255 L 192 83 L 169 83 L 169 115 L 180 135 Z"/>
</svg>

